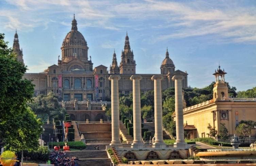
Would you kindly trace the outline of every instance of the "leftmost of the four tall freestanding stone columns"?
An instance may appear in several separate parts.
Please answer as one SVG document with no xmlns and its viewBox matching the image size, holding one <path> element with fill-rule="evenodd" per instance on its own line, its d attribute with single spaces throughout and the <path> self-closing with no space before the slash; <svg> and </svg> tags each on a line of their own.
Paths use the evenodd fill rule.
<svg viewBox="0 0 256 166">
<path fill-rule="evenodd" d="M 110 75 L 111 80 L 111 126 L 112 126 L 112 141 L 110 145 L 121 145 L 119 138 L 119 94 L 118 80 L 119 75 Z"/>
</svg>

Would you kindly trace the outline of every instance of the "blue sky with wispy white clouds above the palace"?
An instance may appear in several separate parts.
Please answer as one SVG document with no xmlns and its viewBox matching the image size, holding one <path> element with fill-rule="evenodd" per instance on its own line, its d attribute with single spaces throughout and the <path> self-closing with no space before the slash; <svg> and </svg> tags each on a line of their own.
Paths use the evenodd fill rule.
<svg viewBox="0 0 256 166">
<path fill-rule="evenodd" d="M 29 73 L 57 64 L 73 14 L 93 68 L 120 63 L 126 31 L 136 74 L 160 74 L 166 48 L 188 85 L 203 88 L 218 68 L 237 91 L 256 86 L 256 0 L 0 0 L 0 33 L 15 29 Z"/>
</svg>

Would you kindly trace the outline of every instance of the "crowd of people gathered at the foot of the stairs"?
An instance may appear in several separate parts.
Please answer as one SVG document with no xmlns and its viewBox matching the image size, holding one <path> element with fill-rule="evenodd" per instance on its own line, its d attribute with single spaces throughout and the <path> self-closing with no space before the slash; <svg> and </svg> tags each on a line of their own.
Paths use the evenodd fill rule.
<svg viewBox="0 0 256 166">
<path fill-rule="evenodd" d="M 65 151 L 52 151 L 50 153 L 51 164 L 54 166 L 78 166 L 77 157 L 66 157 Z"/>
</svg>

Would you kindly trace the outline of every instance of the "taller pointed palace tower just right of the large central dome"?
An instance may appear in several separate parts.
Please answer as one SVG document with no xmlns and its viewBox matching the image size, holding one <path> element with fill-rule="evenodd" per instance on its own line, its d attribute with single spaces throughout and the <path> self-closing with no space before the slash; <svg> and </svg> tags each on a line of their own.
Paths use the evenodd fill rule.
<svg viewBox="0 0 256 166">
<path fill-rule="evenodd" d="M 135 74 L 136 73 L 136 63 L 134 60 L 133 51 L 131 51 L 129 37 L 126 32 L 124 50 L 121 53 L 120 62 L 120 74 Z"/>
</svg>

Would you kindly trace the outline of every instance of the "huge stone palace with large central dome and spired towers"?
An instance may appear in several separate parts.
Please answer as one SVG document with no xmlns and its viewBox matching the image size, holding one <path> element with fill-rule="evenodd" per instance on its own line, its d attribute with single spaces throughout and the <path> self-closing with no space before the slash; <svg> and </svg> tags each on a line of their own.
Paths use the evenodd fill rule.
<svg viewBox="0 0 256 166">
<path fill-rule="evenodd" d="M 18 34 L 15 33 L 14 52 L 17 59 L 23 63 L 22 50 L 19 48 Z M 25 73 L 24 78 L 33 80 L 35 85 L 35 96 L 53 92 L 59 97 L 59 101 L 99 101 L 109 100 L 110 88 L 108 77 L 110 75 L 120 75 L 119 93 L 132 93 L 131 75 L 136 74 L 136 61 L 134 52 L 131 50 L 129 37 L 126 33 L 124 49 L 121 52 L 121 62 L 118 66 L 116 53 L 114 51 L 112 65 L 109 69 L 100 65 L 93 68 L 91 56 L 88 57 L 88 45 L 84 36 L 78 31 L 75 16 L 72 20 L 71 30 L 67 33 L 61 46 L 61 58 L 57 65 L 49 66 L 41 73 Z M 187 72 L 175 70 L 173 61 L 169 57 L 168 50 L 166 57 L 160 66 L 160 73 L 164 79 L 162 88 L 165 90 L 174 87 L 171 80 L 175 73 L 184 75 L 182 86 L 187 88 Z M 151 77 L 154 74 L 140 74 L 141 92 L 153 90 Z"/>
</svg>

